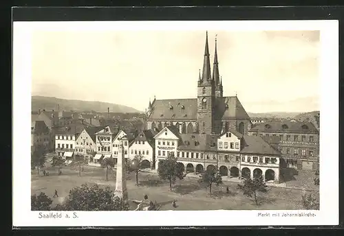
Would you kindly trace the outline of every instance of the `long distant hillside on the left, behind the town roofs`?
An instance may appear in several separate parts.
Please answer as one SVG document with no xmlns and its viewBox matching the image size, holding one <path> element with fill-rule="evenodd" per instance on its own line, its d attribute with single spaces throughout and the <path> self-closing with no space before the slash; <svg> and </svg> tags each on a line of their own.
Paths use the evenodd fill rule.
<svg viewBox="0 0 344 236">
<path fill-rule="evenodd" d="M 106 113 L 107 108 L 110 108 L 111 113 L 140 113 L 140 111 L 136 110 L 135 108 L 118 104 L 111 104 L 107 102 L 89 102 L 43 96 L 32 96 L 31 99 L 31 106 L 33 111 L 39 109 L 57 110 L 59 104 L 61 110 L 74 110 L 76 112 L 81 112 L 84 110 L 95 110 L 99 113 Z"/>
</svg>

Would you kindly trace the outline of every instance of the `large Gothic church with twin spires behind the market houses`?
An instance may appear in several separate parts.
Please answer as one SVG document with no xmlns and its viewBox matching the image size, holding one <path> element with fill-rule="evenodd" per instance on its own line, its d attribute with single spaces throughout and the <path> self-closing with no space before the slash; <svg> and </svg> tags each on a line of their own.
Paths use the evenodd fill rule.
<svg viewBox="0 0 344 236">
<path fill-rule="evenodd" d="M 204 49 L 202 73 L 197 83 L 197 98 L 155 99 L 149 101 L 147 109 L 147 129 L 162 130 L 175 126 L 180 134 L 222 134 L 236 130 L 248 134 L 251 122 L 237 95 L 224 97 L 222 76 L 217 61 L 217 40 L 213 74 L 208 47 L 208 32 Z"/>
</svg>

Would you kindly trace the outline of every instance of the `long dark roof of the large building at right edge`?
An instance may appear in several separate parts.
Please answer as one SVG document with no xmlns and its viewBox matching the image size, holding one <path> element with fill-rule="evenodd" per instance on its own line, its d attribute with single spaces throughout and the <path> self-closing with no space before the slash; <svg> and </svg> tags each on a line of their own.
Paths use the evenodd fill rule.
<svg viewBox="0 0 344 236">
<path fill-rule="evenodd" d="M 318 132 L 314 124 L 308 121 L 267 121 L 259 123 L 250 131 L 268 131 L 268 132 Z"/>
</svg>

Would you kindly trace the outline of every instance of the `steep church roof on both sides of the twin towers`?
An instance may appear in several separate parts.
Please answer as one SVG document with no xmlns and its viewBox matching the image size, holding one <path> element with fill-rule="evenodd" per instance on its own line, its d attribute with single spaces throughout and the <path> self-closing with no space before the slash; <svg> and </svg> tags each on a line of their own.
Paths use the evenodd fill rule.
<svg viewBox="0 0 344 236">
<path fill-rule="evenodd" d="M 155 100 L 152 108 L 148 120 L 197 120 L 197 98 Z M 215 116 L 219 119 L 250 119 L 236 96 L 217 98 Z"/>
</svg>

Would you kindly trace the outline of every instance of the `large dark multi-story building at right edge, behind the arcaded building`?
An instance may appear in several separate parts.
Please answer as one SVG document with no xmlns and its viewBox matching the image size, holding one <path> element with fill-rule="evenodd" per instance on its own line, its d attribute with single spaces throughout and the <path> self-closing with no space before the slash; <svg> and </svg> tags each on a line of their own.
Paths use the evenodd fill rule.
<svg viewBox="0 0 344 236">
<path fill-rule="evenodd" d="M 282 168 L 319 168 L 319 131 L 310 122 L 269 121 L 253 127 L 248 133 L 279 137 Z"/>
</svg>

